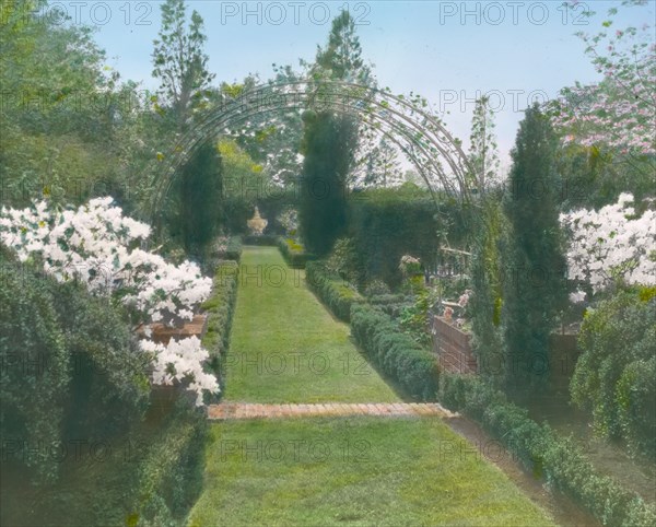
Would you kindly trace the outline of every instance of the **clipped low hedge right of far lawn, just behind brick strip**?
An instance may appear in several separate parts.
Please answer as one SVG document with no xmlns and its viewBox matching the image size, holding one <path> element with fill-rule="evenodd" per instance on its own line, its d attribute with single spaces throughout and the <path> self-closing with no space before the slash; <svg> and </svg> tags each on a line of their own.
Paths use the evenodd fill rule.
<svg viewBox="0 0 656 527">
<path fill-rule="evenodd" d="M 405 393 L 421 400 L 435 400 L 437 359 L 403 333 L 389 315 L 366 304 L 353 304 L 351 331 L 370 359 Z"/>
</svg>

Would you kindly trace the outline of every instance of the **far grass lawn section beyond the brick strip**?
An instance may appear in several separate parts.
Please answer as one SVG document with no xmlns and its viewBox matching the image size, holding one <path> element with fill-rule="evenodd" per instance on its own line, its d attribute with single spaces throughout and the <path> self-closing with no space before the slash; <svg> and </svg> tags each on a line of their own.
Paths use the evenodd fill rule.
<svg viewBox="0 0 656 527">
<path fill-rule="evenodd" d="M 276 247 L 244 247 L 225 363 L 229 401 L 399 400 Z"/>
</svg>

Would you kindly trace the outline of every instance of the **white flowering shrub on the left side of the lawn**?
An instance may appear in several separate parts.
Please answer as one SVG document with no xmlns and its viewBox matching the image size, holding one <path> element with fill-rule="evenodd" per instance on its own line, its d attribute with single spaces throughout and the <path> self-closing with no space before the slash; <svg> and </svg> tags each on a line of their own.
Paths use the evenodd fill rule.
<svg viewBox="0 0 656 527">
<path fill-rule="evenodd" d="M 20 261 L 38 257 L 45 271 L 59 281 L 77 279 L 93 294 L 115 294 L 147 324 L 191 320 L 196 305 L 209 297 L 212 280 L 202 277 L 196 264 L 174 266 L 159 255 L 131 248 L 149 235 L 150 227 L 124 216 L 112 198 L 93 199 L 77 210 L 50 211 L 40 201 L 23 210 L 3 208 L 0 213 L 0 239 Z M 199 397 L 201 389 L 218 389 L 215 379 L 210 382 L 202 372 L 207 351 L 200 342 L 172 342 L 165 352 L 153 342 L 143 346 L 155 352 L 155 384 L 190 378 L 190 389 Z"/>
</svg>

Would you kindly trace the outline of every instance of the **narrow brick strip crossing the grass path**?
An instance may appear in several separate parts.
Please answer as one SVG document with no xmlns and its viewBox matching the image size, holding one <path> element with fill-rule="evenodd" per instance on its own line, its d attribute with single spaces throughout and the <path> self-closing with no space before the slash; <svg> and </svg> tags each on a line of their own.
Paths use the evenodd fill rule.
<svg viewBox="0 0 656 527">
<path fill-rule="evenodd" d="M 430 403 L 348 403 L 328 402 L 317 405 L 258 405 L 254 402 L 222 402 L 208 407 L 208 418 L 214 421 L 225 419 L 276 419 L 316 415 L 436 415 L 453 418 L 436 402 Z"/>
</svg>

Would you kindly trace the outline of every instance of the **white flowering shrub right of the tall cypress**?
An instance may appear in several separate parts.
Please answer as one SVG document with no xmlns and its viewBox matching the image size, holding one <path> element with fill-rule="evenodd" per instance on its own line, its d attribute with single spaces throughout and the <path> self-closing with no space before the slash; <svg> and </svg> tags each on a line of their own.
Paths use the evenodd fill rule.
<svg viewBox="0 0 656 527">
<path fill-rule="evenodd" d="M 622 194 L 614 204 L 598 212 L 581 209 L 561 214 L 571 232 L 569 277 L 601 291 L 613 280 L 656 284 L 656 212 L 634 218 L 633 196 Z"/>
</svg>

